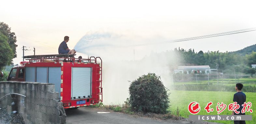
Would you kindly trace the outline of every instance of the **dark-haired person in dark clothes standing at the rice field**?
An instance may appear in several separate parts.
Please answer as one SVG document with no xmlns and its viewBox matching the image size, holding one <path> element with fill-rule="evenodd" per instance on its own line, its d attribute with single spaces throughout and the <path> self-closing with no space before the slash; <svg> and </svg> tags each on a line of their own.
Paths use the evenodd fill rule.
<svg viewBox="0 0 256 124">
<path fill-rule="evenodd" d="M 235 84 L 235 91 L 236 93 L 234 94 L 233 101 L 237 102 L 237 104 L 240 105 L 240 107 L 237 109 L 239 111 L 239 114 L 236 114 L 234 111 L 232 112 L 232 115 L 245 115 L 245 113 L 242 113 L 243 109 L 243 104 L 246 101 L 246 95 L 243 93 L 241 90 L 243 88 L 242 83 L 237 83 Z M 245 120 L 234 120 L 234 124 L 245 124 Z"/>
</svg>

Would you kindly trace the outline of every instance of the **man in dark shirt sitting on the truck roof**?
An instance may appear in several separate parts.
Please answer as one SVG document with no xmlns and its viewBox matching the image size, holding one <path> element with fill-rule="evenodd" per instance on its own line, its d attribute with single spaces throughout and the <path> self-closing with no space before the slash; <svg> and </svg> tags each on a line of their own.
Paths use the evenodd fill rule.
<svg viewBox="0 0 256 124">
<path fill-rule="evenodd" d="M 68 47 L 67 47 L 67 42 L 69 41 L 69 37 L 68 36 L 65 36 L 64 37 L 64 41 L 61 42 L 60 46 L 59 46 L 59 54 L 75 54 L 76 51 L 73 49 L 73 50 L 70 50 Z"/>
</svg>

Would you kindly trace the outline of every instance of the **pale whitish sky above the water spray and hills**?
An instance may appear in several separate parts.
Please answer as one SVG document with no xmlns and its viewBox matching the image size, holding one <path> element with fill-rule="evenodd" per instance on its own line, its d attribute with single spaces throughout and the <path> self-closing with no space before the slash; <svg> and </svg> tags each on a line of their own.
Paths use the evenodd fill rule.
<svg viewBox="0 0 256 124">
<path fill-rule="evenodd" d="M 23 45 L 31 49 L 25 51 L 25 56 L 34 54 L 33 47 L 37 55 L 58 54 L 64 36 L 70 37 L 67 44 L 73 49 L 83 36 L 99 32 L 122 35 L 127 39 L 125 44 L 133 45 L 256 27 L 255 3 L 234 0 L 2 1 L 0 21 L 16 33 L 18 57 L 13 61 L 19 63 Z M 133 54 L 135 50 L 135 59 L 148 55 L 148 51 L 161 52 L 175 47 L 197 52 L 236 51 L 255 44 L 255 33 L 131 47 L 128 51 Z"/>
</svg>

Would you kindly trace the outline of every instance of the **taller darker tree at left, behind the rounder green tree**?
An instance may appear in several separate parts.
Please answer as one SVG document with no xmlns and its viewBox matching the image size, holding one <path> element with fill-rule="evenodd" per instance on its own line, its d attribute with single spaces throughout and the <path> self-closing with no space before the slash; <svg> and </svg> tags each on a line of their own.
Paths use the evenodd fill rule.
<svg viewBox="0 0 256 124">
<path fill-rule="evenodd" d="M 16 47 L 18 45 L 16 45 L 17 39 L 16 39 L 15 33 L 11 32 L 11 28 L 9 28 L 9 26 L 4 22 L 0 22 L 0 32 L 3 35 L 7 36 L 8 38 L 7 43 L 9 44 L 9 46 L 13 51 L 13 58 L 16 58 L 17 57 Z"/>
</svg>

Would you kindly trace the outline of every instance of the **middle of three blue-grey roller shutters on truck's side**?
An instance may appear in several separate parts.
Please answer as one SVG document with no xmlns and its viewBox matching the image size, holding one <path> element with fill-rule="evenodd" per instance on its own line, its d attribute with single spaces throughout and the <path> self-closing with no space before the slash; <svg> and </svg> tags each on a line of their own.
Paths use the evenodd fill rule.
<svg viewBox="0 0 256 124">
<path fill-rule="evenodd" d="M 36 67 L 36 82 L 47 83 L 47 67 Z"/>
</svg>

